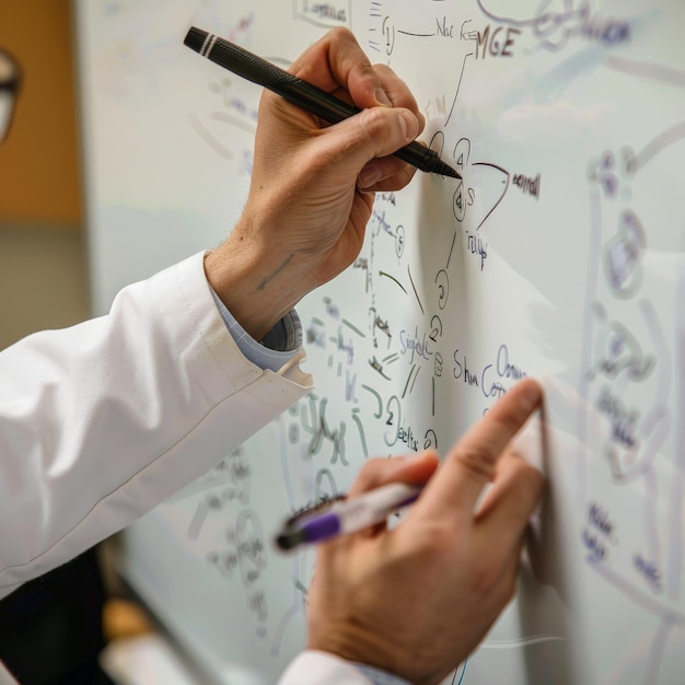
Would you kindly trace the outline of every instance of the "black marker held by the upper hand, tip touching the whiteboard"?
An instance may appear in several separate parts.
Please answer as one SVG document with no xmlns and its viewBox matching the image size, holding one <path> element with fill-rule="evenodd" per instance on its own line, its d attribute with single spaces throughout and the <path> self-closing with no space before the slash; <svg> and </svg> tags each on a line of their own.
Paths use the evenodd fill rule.
<svg viewBox="0 0 685 685">
<path fill-rule="evenodd" d="M 224 40 L 201 28 L 191 26 L 186 34 L 184 43 L 202 57 L 211 59 L 217 65 L 253 83 L 278 93 L 288 102 L 321 117 L 328 124 L 337 124 L 360 112 L 358 107 L 348 105 L 239 45 Z M 462 177 L 458 172 L 445 164 L 430 148 L 426 148 L 416 141 L 400 148 L 394 154 L 421 171 L 441 174 L 442 176 L 452 176 L 453 178 Z"/>
</svg>

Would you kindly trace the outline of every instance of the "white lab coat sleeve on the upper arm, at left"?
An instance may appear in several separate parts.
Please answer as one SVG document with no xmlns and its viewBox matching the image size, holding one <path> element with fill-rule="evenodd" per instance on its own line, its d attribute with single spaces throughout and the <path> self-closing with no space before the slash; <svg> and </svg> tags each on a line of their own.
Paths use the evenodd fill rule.
<svg viewBox="0 0 685 685">
<path fill-rule="evenodd" d="M 311 388 L 251 363 L 197 254 L 0 352 L 0 596 L 127 526 Z"/>
</svg>

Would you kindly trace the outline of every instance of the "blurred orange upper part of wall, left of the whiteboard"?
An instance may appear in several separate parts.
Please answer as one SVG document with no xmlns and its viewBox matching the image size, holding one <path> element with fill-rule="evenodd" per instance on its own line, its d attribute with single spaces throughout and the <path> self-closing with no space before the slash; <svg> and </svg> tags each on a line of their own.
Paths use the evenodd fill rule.
<svg viewBox="0 0 685 685">
<path fill-rule="evenodd" d="M 0 144 L 0 222 L 82 224 L 74 49 L 69 0 L 1 0 L 0 46 L 22 71 Z"/>
</svg>

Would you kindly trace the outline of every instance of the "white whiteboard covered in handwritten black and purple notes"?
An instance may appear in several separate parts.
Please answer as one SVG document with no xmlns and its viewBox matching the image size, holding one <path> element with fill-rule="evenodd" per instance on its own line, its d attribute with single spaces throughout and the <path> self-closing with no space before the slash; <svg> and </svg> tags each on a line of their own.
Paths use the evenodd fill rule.
<svg viewBox="0 0 685 685">
<path fill-rule="evenodd" d="M 371 455 L 444 454 L 523 375 L 549 492 L 516 601 L 449 683 L 671 684 L 685 667 L 685 5 L 77 0 L 94 313 L 240 216 L 259 89 L 188 26 L 287 66 L 332 26 L 409 84 L 463 181 L 379 195 L 298 307 L 316 390 L 131 526 L 124 571 L 208 682 L 304 643 L 285 515 Z"/>
</svg>

